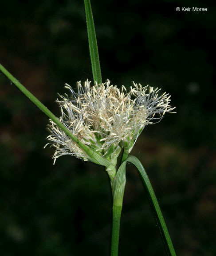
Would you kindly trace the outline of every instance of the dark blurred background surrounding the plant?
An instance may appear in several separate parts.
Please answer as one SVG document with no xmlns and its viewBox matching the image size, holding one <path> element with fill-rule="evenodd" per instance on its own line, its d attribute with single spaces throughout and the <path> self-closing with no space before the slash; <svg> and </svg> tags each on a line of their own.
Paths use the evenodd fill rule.
<svg viewBox="0 0 216 256">
<path fill-rule="evenodd" d="M 184 6 L 208 11 L 176 11 Z M 92 8 L 103 80 L 162 88 L 177 107 L 146 127 L 132 151 L 149 174 L 177 255 L 216 255 L 216 7 L 92 0 Z M 64 83 L 92 79 L 83 2 L 1 2 L 0 63 L 59 116 L 55 99 Z M 0 255 L 108 256 L 107 174 L 71 156 L 53 166 L 54 149 L 43 149 L 47 121 L 0 74 Z M 129 164 L 126 173 L 119 255 L 165 255 L 137 171 Z"/>
</svg>

